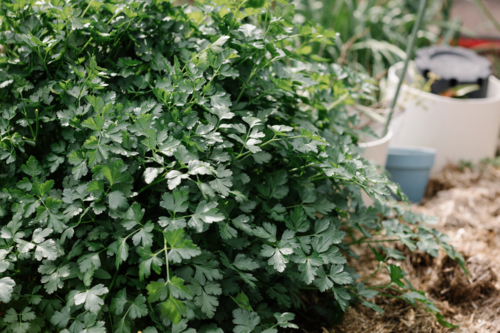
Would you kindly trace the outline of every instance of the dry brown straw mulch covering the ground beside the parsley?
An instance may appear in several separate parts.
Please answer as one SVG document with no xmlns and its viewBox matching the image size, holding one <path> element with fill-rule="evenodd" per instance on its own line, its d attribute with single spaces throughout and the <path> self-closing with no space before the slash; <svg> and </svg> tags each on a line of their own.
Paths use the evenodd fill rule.
<svg viewBox="0 0 500 333">
<path fill-rule="evenodd" d="M 464 255 L 470 275 L 444 253 L 433 258 L 403 248 L 399 249 L 407 259 L 401 267 L 413 286 L 425 291 L 446 320 L 459 328 L 445 328 L 431 314 L 398 299 L 376 297 L 374 302 L 385 310 L 384 316 L 355 305 L 340 324 L 300 325 L 303 332 L 500 333 L 500 169 L 491 165 L 474 170 L 448 166 L 431 180 L 423 204 L 413 209 L 439 217 L 434 227 L 447 234 L 451 244 Z M 367 277 L 376 269 L 376 259 L 369 248 L 358 248 L 356 252 L 362 260 L 349 264 Z M 387 274 L 381 272 L 370 284 L 388 281 Z"/>
</svg>

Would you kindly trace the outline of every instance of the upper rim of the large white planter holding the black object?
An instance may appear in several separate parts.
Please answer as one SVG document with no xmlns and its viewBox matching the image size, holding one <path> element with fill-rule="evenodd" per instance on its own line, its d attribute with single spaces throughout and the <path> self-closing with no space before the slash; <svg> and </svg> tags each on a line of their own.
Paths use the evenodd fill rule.
<svg viewBox="0 0 500 333">
<path fill-rule="evenodd" d="M 387 75 L 388 81 L 390 82 L 391 77 L 395 77 L 396 79 L 399 79 L 399 77 L 396 75 L 396 70 L 401 69 L 404 66 L 404 63 L 398 62 L 394 65 L 392 65 L 389 68 L 389 72 Z M 497 86 L 500 86 L 500 80 L 497 79 L 495 76 L 490 75 L 488 78 L 489 84 L 494 84 Z M 397 82 L 395 82 L 397 83 Z M 491 103 L 498 103 L 500 101 L 500 95 L 496 97 L 485 97 L 485 98 L 471 98 L 471 99 L 459 99 L 459 98 L 452 98 L 452 97 L 445 97 L 445 96 L 439 96 L 427 91 L 422 91 L 420 89 L 417 89 L 415 87 L 411 87 L 407 85 L 406 83 L 403 83 L 403 87 L 407 89 L 410 93 L 415 94 L 415 95 L 422 95 L 423 97 L 434 100 L 437 102 L 446 102 L 448 104 L 491 104 Z M 481 110 L 473 110 L 471 112 L 481 112 Z"/>
</svg>

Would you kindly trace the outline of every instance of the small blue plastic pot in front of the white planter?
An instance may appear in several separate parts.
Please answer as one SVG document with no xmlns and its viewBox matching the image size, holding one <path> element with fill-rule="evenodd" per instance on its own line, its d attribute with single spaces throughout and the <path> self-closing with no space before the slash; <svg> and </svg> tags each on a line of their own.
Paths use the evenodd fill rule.
<svg viewBox="0 0 500 333">
<path fill-rule="evenodd" d="M 432 148 L 389 148 L 386 169 L 411 202 L 422 200 L 435 155 Z"/>
</svg>

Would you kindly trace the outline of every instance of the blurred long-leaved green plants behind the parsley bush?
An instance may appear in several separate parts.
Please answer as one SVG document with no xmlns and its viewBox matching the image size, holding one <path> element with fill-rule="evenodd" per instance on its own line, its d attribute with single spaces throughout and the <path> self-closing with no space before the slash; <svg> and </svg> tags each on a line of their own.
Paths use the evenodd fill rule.
<svg viewBox="0 0 500 333">
<path fill-rule="evenodd" d="M 416 20 L 414 0 L 296 0 L 298 23 L 314 21 L 336 32 L 335 43 L 316 43 L 306 50 L 315 60 L 347 65 L 370 75 L 380 89 L 365 105 L 379 101 L 384 77 L 393 64 L 404 60 L 408 36 Z M 431 0 L 418 32 L 417 48 L 452 43 L 460 34 L 474 35 L 452 18 L 454 0 Z"/>
</svg>

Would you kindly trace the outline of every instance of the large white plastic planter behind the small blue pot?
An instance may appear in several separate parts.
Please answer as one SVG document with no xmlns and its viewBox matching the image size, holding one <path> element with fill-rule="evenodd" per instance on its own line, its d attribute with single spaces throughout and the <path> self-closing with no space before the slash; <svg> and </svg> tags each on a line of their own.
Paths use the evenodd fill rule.
<svg viewBox="0 0 500 333">
<path fill-rule="evenodd" d="M 389 69 L 386 98 L 394 96 L 403 63 Z M 464 70 L 467 70 L 464 68 Z M 398 98 L 403 112 L 392 122 L 392 146 L 436 150 L 431 174 L 448 162 L 477 163 L 493 158 L 500 130 L 500 80 L 490 76 L 488 94 L 480 99 L 456 99 L 427 93 L 403 84 Z"/>
</svg>

